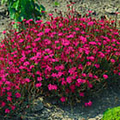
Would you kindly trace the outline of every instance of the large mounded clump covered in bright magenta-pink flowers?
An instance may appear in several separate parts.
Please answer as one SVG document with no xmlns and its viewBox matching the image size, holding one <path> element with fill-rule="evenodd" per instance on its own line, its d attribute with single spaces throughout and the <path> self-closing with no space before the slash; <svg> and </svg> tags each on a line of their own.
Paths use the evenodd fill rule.
<svg viewBox="0 0 120 120">
<path fill-rule="evenodd" d="M 72 11 L 73 12 L 73 11 Z M 110 21 L 68 14 L 43 23 L 23 20 L 0 43 L 0 113 L 22 111 L 33 95 L 70 103 L 120 76 L 120 31 Z M 92 101 L 84 101 L 91 106 Z M 27 104 L 26 104 L 27 105 Z M 24 108 L 23 108 L 24 109 Z"/>
</svg>

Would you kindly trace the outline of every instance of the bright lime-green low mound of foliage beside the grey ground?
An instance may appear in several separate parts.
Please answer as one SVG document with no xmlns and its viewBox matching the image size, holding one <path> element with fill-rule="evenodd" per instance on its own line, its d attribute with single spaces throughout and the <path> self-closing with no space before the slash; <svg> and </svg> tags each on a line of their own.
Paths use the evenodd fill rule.
<svg viewBox="0 0 120 120">
<path fill-rule="evenodd" d="M 104 112 L 102 120 L 120 120 L 120 106 L 107 109 Z"/>
</svg>

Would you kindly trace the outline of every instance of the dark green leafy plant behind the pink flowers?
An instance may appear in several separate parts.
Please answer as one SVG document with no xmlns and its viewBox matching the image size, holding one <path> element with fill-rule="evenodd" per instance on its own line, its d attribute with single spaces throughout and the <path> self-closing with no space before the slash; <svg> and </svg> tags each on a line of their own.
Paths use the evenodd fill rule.
<svg viewBox="0 0 120 120">
<path fill-rule="evenodd" d="M 23 19 L 39 20 L 45 17 L 45 7 L 38 5 L 35 0 L 2 0 L 1 4 L 8 6 L 10 18 L 15 22 L 22 22 Z"/>
</svg>

